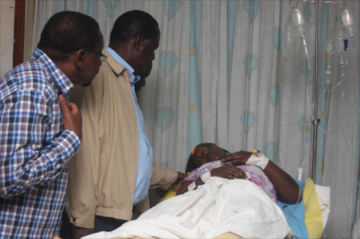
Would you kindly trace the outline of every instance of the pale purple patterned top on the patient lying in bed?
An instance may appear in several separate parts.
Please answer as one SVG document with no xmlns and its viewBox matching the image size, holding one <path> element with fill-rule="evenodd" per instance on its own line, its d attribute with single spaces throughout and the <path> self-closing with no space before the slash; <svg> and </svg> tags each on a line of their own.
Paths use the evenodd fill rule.
<svg viewBox="0 0 360 239">
<path fill-rule="evenodd" d="M 210 163 L 205 163 L 200 168 L 191 171 L 190 175 L 188 175 L 186 179 L 181 181 L 180 184 L 184 181 L 191 181 L 191 182 L 195 181 L 205 172 L 212 170 L 214 168 L 220 168 L 221 166 L 226 164 L 228 163 L 221 163 L 220 161 L 212 161 Z M 264 171 L 261 168 L 253 165 L 240 165 L 236 167 L 240 168 L 240 170 L 243 170 L 246 173 L 246 175 L 248 175 L 248 179 L 245 180 L 249 180 L 250 182 L 259 186 L 259 188 L 262 189 L 267 195 L 269 195 L 269 197 L 272 200 L 274 200 L 274 202 L 276 203 L 276 191 L 274 185 L 271 184 L 269 178 L 265 175 Z"/>
</svg>

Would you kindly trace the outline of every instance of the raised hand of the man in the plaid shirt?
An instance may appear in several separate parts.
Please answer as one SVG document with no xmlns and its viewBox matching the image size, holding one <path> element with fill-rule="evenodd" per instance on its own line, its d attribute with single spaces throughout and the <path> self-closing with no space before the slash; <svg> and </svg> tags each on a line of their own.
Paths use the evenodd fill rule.
<svg viewBox="0 0 360 239">
<path fill-rule="evenodd" d="M 82 140 L 82 113 L 75 103 L 68 102 L 63 95 L 58 97 L 61 112 L 63 112 L 63 127 L 72 130 Z"/>
</svg>

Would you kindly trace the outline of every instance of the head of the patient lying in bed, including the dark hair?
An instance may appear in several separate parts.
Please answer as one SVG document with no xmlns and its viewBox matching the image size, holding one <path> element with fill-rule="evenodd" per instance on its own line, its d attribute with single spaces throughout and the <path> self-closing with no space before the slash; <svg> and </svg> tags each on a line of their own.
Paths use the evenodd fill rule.
<svg viewBox="0 0 360 239">
<path fill-rule="evenodd" d="M 216 144 L 198 144 L 191 152 L 190 157 L 188 157 L 188 163 L 186 164 L 186 172 L 191 172 L 195 168 L 199 168 L 205 163 L 221 160 L 229 154 L 229 151 L 221 149 Z"/>
</svg>

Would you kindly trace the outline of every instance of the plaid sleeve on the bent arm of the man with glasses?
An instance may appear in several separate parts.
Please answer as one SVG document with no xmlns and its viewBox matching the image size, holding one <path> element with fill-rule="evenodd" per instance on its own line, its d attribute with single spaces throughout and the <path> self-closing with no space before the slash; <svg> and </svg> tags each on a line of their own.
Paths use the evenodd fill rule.
<svg viewBox="0 0 360 239">
<path fill-rule="evenodd" d="M 7 97 L 0 108 L 0 197 L 9 198 L 51 182 L 80 146 L 64 130 L 44 146 L 51 131 L 51 102 L 35 91 Z"/>
</svg>

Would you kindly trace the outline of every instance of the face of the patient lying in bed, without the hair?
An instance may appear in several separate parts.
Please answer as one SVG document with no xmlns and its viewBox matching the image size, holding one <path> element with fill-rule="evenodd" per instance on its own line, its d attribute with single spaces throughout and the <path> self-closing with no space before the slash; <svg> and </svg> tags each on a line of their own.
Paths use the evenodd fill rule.
<svg viewBox="0 0 360 239">
<path fill-rule="evenodd" d="M 199 168 L 205 163 L 219 161 L 227 156 L 226 152 L 215 144 L 198 144 L 195 151 L 195 164 Z"/>
</svg>

